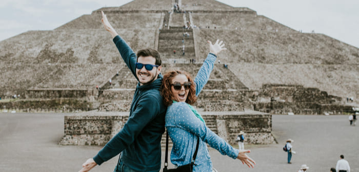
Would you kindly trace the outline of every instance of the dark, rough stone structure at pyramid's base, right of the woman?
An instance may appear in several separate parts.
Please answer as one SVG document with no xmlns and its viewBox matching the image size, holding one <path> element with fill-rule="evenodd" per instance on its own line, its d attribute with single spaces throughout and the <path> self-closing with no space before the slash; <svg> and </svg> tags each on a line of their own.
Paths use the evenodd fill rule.
<svg viewBox="0 0 359 172">
<path fill-rule="evenodd" d="M 302 85 L 265 84 L 261 90 L 252 91 L 249 99 L 254 101 L 254 110 L 274 114 L 343 114 L 351 109 L 341 104 L 340 97 Z"/>
</svg>

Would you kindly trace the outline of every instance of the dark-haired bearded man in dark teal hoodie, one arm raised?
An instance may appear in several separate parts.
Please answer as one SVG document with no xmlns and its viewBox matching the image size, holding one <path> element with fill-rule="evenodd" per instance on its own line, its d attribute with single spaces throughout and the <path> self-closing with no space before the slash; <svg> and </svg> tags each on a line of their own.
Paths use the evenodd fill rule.
<svg viewBox="0 0 359 172">
<path fill-rule="evenodd" d="M 89 171 L 96 165 L 118 155 L 114 171 L 159 171 L 161 168 L 161 139 L 165 131 L 167 107 L 159 92 L 163 76 L 161 59 L 156 50 L 133 50 L 117 34 L 104 12 L 102 23 L 113 37 L 119 53 L 132 74 L 138 80 L 133 96 L 130 115 L 124 127 L 98 154 L 88 159 L 80 171 Z"/>
</svg>

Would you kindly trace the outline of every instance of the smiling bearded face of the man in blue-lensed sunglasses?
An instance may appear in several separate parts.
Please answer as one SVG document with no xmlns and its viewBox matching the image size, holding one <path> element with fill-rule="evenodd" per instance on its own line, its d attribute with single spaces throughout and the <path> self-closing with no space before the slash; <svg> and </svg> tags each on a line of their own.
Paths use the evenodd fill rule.
<svg viewBox="0 0 359 172">
<path fill-rule="evenodd" d="M 137 58 L 137 63 L 142 63 L 144 65 L 150 64 L 155 65 L 156 59 L 153 56 L 139 56 Z M 152 70 L 147 70 L 145 66 L 141 69 L 136 68 L 136 75 L 140 85 L 149 84 L 152 81 L 157 79 L 157 75 L 161 72 L 162 66 L 155 67 L 153 66 Z"/>
</svg>

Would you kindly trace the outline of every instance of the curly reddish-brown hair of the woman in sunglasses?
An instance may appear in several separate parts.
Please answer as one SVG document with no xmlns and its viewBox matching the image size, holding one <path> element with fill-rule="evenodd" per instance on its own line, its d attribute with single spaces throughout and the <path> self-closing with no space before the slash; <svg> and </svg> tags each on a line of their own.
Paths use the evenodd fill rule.
<svg viewBox="0 0 359 172">
<path fill-rule="evenodd" d="M 185 71 L 182 71 L 182 70 L 171 70 L 171 71 L 168 71 L 163 76 L 163 81 L 162 81 L 162 86 L 161 86 L 161 95 L 163 96 L 163 101 L 166 106 L 169 106 L 173 103 L 172 100 L 174 99 L 174 97 L 173 97 L 173 93 L 171 90 L 172 79 L 174 77 L 176 77 L 176 75 L 178 75 L 178 74 L 186 75 L 188 82 L 191 82 L 191 87 L 189 88 L 189 91 L 188 91 L 186 103 L 192 105 L 197 100 L 196 87 L 194 85 L 194 81 L 191 78 L 190 74 Z"/>
</svg>

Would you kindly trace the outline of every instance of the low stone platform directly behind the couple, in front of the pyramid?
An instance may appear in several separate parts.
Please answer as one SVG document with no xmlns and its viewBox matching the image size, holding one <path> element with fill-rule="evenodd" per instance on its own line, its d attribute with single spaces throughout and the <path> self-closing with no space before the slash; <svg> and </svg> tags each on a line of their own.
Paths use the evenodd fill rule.
<svg viewBox="0 0 359 172">
<path fill-rule="evenodd" d="M 218 136 L 236 144 L 235 139 L 241 130 L 246 133 L 245 142 L 249 144 L 272 144 L 272 116 L 270 114 L 245 112 L 200 112 L 207 126 Z M 84 112 L 64 118 L 64 138 L 61 145 L 105 145 L 121 130 L 128 120 L 128 112 Z M 162 144 L 165 144 L 163 137 Z"/>
</svg>

